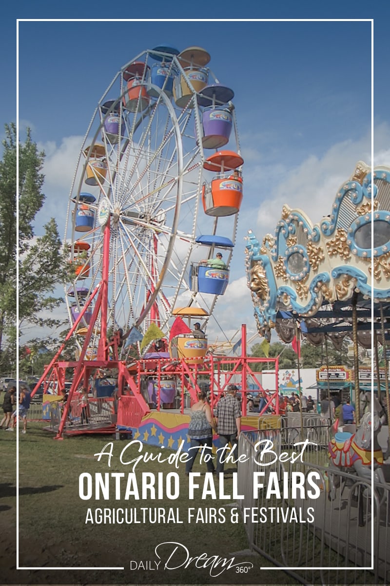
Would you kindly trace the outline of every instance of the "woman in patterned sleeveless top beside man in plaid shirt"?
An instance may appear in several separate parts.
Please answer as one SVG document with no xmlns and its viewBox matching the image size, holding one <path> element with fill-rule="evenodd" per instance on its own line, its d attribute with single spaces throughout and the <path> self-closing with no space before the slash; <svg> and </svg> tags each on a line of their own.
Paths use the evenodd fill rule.
<svg viewBox="0 0 390 586">
<path fill-rule="evenodd" d="M 191 440 L 189 447 L 190 458 L 185 463 L 185 473 L 188 476 L 192 471 L 195 458 L 198 455 L 199 448 L 205 445 L 208 449 L 203 452 L 204 455 L 212 455 L 213 431 L 216 432 L 215 423 L 212 418 L 211 409 L 207 403 L 207 394 L 205 391 L 198 391 L 198 402 L 191 407 L 191 421 L 188 425 L 188 435 Z M 215 472 L 212 458 L 206 458 L 207 471 Z"/>
</svg>

